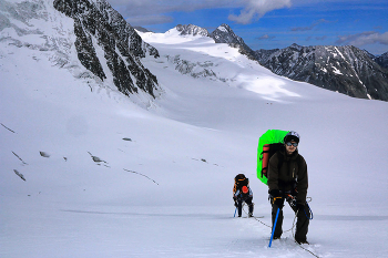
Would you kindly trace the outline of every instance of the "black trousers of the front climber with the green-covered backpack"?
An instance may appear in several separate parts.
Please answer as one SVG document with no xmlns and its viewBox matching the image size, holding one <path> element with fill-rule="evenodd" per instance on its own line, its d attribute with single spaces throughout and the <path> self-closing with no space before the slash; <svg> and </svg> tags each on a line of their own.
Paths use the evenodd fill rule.
<svg viewBox="0 0 388 258">
<path fill-rule="evenodd" d="M 283 199 L 284 200 L 284 199 Z M 282 205 L 283 206 L 283 205 Z M 309 225 L 309 217 L 310 217 L 310 209 L 307 204 L 299 210 L 295 206 L 292 206 L 289 204 L 289 207 L 294 210 L 296 214 L 297 211 L 297 218 L 296 218 L 296 230 L 295 230 L 295 239 L 297 241 L 306 241 L 307 240 L 307 233 L 308 233 L 308 225 Z M 272 205 L 272 225 L 274 228 L 275 218 L 277 208 L 279 208 L 276 204 Z M 283 209 L 279 210 L 279 216 L 277 217 L 276 228 L 274 233 L 274 238 L 280 238 L 283 234 L 282 225 L 283 225 Z"/>
</svg>

